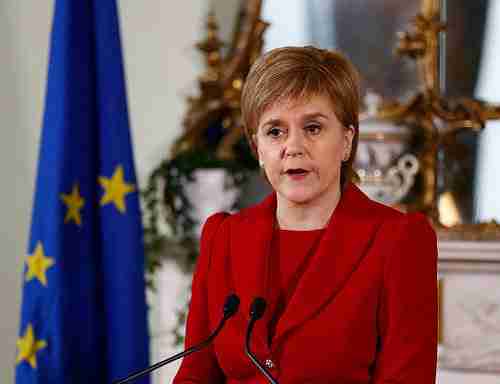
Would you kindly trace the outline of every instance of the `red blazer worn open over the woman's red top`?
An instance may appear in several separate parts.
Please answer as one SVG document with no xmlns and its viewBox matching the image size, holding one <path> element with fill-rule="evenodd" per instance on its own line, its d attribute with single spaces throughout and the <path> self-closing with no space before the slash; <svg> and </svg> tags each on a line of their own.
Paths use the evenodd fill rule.
<svg viewBox="0 0 500 384">
<path fill-rule="evenodd" d="M 276 196 L 211 216 L 193 278 L 186 345 L 204 339 L 236 293 L 239 312 L 214 344 L 184 359 L 174 383 L 266 383 L 244 353 L 248 309 L 268 301 L 253 351 L 281 384 L 431 384 L 437 353 L 436 236 L 349 184 L 268 343 L 277 287 L 268 271 Z"/>
</svg>

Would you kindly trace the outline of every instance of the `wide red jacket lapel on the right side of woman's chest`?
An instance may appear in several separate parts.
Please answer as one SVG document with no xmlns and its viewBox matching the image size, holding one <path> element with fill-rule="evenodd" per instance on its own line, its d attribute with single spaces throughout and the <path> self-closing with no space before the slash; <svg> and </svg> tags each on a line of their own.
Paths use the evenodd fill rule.
<svg viewBox="0 0 500 384">
<path fill-rule="evenodd" d="M 349 280 L 378 227 L 374 203 L 350 184 L 276 328 L 276 340 L 321 311 Z"/>
</svg>

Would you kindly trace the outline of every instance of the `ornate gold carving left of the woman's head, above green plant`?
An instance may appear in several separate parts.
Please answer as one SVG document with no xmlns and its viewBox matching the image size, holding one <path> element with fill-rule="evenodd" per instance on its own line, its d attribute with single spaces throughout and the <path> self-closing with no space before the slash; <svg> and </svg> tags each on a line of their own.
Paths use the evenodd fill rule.
<svg viewBox="0 0 500 384">
<path fill-rule="evenodd" d="M 184 133 L 175 142 L 172 153 L 204 148 L 207 127 L 222 120 L 227 133 L 216 149 L 220 158 L 233 158 L 233 145 L 243 136 L 240 123 L 240 96 L 244 79 L 262 50 L 262 36 L 268 26 L 260 19 L 262 0 L 242 2 L 238 28 L 227 57 L 222 57 L 223 43 L 213 13 L 208 15 L 207 37 L 197 44 L 205 57 L 207 69 L 199 77 L 200 96 L 189 98 L 183 121 Z"/>
</svg>

